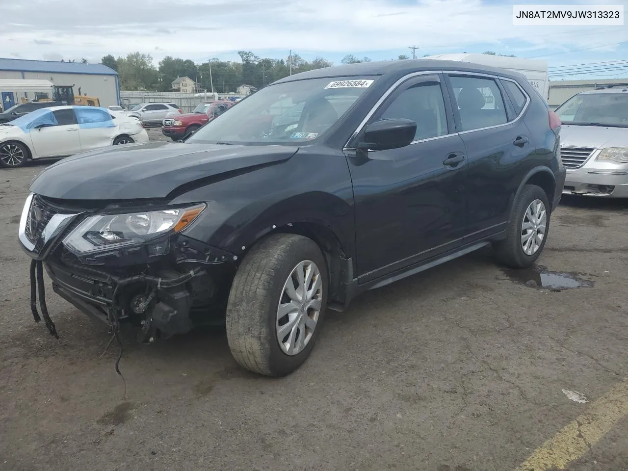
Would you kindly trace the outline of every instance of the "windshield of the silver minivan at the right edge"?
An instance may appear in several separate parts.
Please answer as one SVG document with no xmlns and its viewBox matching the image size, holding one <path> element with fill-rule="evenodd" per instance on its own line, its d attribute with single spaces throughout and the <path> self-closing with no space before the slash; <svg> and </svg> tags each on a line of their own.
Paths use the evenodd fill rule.
<svg viewBox="0 0 628 471">
<path fill-rule="evenodd" d="M 575 95 L 556 114 L 565 124 L 628 127 L 628 93 Z"/>
</svg>

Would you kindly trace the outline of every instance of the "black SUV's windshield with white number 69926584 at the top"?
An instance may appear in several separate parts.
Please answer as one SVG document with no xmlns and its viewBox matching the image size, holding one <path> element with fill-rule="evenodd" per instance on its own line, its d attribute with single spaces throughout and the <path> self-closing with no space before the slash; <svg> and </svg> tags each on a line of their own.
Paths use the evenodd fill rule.
<svg viewBox="0 0 628 471">
<path fill-rule="evenodd" d="M 187 142 L 299 145 L 324 134 L 375 80 L 310 78 L 269 85 L 210 121 Z"/>
</svg>

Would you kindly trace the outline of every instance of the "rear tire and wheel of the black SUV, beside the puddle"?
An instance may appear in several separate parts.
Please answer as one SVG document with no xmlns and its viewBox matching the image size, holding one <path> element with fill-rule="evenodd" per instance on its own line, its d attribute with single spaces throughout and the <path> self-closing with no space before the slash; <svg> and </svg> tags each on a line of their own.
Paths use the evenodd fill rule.
<svg viewBox="0 0 628 471">
<path fill-rule="evenodd" d="M 540 207 L 539 203 L 541 203 Z M 541 216 L 538 222 L 535 222 L 535 220 L 539 218 L 534 217 L 536 208 L 541 208 L 539 212 Z M 530 212 L 528 212 L 529 209 Z M 547 242 L 549 217 L 548 197 L 543 188 L 536 185 L 525 185 L 515 202 L 511 220 L 506 229 L 506 239 L 493 242 L 493 250 L 497 261 L 512 268 L 531 266 L 541 255 L 545 242 Z M 523 227 L 524 223 L 526 224 L 526 229 Z M 528 236 L 528 239 L 524 239 L 524 232 L 526 232 L 525 236 Z M 538 234 L 541 234 L 541 232 L 542 239 L 538 243 Z M 527 241 L 525 246 L 524 240 Z M 524 251 L 524 247 L 527 249 L 527 252 Z"/>
</svg>

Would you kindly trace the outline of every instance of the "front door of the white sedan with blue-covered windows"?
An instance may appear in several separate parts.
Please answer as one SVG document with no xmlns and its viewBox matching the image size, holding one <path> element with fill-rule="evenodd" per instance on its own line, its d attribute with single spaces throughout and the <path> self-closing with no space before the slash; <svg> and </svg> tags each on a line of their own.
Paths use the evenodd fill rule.
<svg viewBox="0 0 628 471">
<path fill-rule="evenodd" d="M 31 126 L 31 142 L 38 157 L 61 157 L 80 152 L 77 119 L 71 108 L 48 111 Z"/>
</svg>

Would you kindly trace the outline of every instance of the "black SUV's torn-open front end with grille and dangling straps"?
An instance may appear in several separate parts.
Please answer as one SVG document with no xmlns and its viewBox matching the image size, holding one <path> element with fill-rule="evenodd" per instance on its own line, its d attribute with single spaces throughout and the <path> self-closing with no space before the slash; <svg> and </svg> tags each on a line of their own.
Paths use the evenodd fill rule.
<svg viewBox="0 0 628 471">
<path fill-rule="evenodd" d="M 40 321 L 39 298 L 41 317 L 58 337 L 46 308 L 43 269 L 53 291 L 64 300 L 107 323 L 114 333 L 121 322 L 136 325 L 139 342 L 216 322 L 237 257 L 183 234 L 170 234 L 168 251 L 159 256 L 138 245 L 80 259 L 62 241 L 88 215 L 36 195 L 30 195 L 24 205 L 19 242 L 33 259 L 31 310 L 36 322 Z"/>
</svg>

